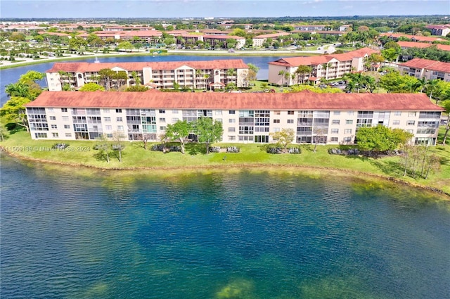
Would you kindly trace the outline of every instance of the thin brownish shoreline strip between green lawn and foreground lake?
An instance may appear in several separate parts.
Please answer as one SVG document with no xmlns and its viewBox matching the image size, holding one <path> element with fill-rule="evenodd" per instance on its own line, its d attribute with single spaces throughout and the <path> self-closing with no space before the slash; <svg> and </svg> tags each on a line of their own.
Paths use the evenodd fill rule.
<svg viewBox="0 0 450 299">
<path fill-rule="evenodd" d="M 24 160 L 24 161 L 31 161 L 31 162 L 37 162 L 37 163 L 44 163 L 44 164 L 49 164 L 49 165 L 63 165 L 63 166 L 68 166 L 68 167 L 83 167 L 84 169 L 94 169 L 94 170 L 98 170 L 98 171 L 120 171 L 120 172 L 124 172 L 124 171 L 133 171 L 133 170 L 178 170 L 180 172 L 190 172 L 190 171 L 198 171 L 198 170 L 215 170 L 215 171 L 225 171 L 225 170 L 238 170 L 238 171 L 243 171 L 243 170 L 248 170 L 248 169 L 274 169 L 276 168 L 277 170 L 281 170 L 281 167 L 285 167 L 282 169 L 282 171 L 286 172 L 289 170 L 295 170 L 295 171 L 300 171 L 300 170 L 308 170 L 309 172 L 320 172 L 320 175 L 323 175 L 323 172 L 334 172 L 335 174 L 340 174 L 340 175 L 345 175 L 345 176 L 351 176 L 351 177 L 356 177 L 356 178 L 360 178 L 361 176 L 365 176 L 365 177 L 372 177 L 372 178 L 376 178 L 376 179 L 381 179 L 387 182 L 393 182 L 395 184 L 401 184 L 403 186 L 409 186 L 409 187 L 413 187 L 413 188 L 418 188 L 418 189 L 422 189 L 424 191 L 430 191 L 432 193 L 437 193 L 439 195 L 445 196 L 445 198 L 450 201 L 450 193 L 447 193 L 446 191 L 442 190 L 442 189 L 437 189 L 435 187 L 432 186 L 424 186 L 421 184 L 415 184 L 412 182 L 406 182 L 402 179 L 398 179 L 396 177 L 390 177 L 390 176 L 385 176 L 383 174 L 373 174 L 371 172 L 361 172 L 361 171 L 357 171 L 357 170 L 342 170 L 339 168 L 334 168 L 334 167 L 313 167 L 313 166 L 309 166 L 309 165 L 291 165 L 291 164 L 266 164 L 266 163 L 240 163 L 240 164 L 233 164 L 233 165 L 196 165 L 193 167 L 188 167 L 188 168 L 181 168 L 178 166 L 167 166 L 167 167 L 162 167 L 162 166 L 157 166 L 157 167 L 97 167 L 97 166 L 93 166 L 93 165 L 84 165 L 83 163 L 63 163 L 60 161 L 55 161 L 55 160 L 47 160 L 47 159 L 40 159 L 40 158 L 30 158 L 30 157 L 25 157 L 23 155 L 18 155 L 15 153 L 11 153 L 11 151 L 6 150 L 6 148 L 4 148 L 3 146 L 0 146 L 0 155 L 2 153 L 5 153 L 6 155 L 12 157 L 12 158 L 17 158 L 18 160 Z"/>
</svg>

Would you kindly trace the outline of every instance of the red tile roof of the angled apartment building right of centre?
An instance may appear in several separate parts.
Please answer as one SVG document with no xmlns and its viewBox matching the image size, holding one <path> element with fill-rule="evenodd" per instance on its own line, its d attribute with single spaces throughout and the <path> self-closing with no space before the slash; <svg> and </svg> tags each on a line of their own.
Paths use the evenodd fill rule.
<svg viewBox="0 0 450 299">
<path fill-rule="evenodd" d="M 328 54 L 321 56 L 307 56 L 307 57 L 287 57 L 278 59 L 278 61 L 272 61 L 269 64 L 273 65 L 288 65 L 290 67 L 295 67 L 298 65 L 319 65 L 322 63 L 328 63 L 333 58 L 338 61 L 352 61 L 353 58 L 360 58 L 366 55 L 371 55 L 372 53 L 379 53 L 379 51 L 362 48 L 356 51 L 350 51 L 347 53 L 340 54 Z"/>
</svg>

